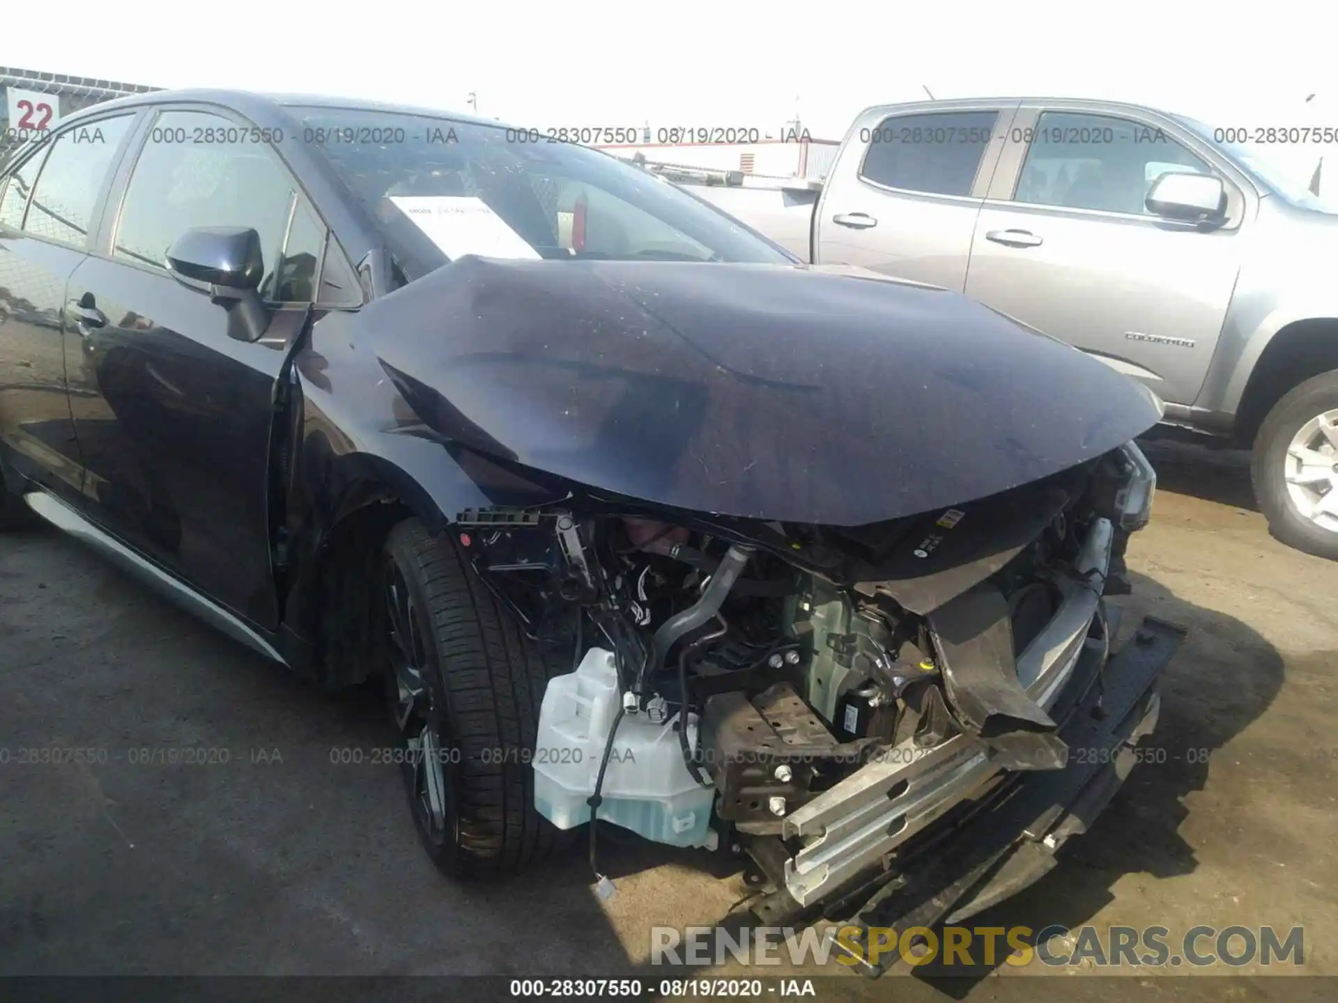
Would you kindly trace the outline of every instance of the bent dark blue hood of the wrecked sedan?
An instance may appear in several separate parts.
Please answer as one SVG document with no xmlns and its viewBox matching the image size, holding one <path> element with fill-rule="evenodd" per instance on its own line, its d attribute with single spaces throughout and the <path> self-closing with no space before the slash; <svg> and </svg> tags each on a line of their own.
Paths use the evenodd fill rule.
<svg viewBox="0 0 1338 1003">
<path fill-rule="evenodd" d="M 740 518 L 946 507 L 1161 416 L 1140 384 L 963 296 L 848 269 L 466 257 L 348 325 L 438 435 Z"/>
</svg>

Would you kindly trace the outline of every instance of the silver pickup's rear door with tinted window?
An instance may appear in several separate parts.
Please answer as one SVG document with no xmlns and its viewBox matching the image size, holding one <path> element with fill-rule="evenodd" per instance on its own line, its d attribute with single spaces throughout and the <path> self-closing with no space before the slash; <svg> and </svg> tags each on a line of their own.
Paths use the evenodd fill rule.
<svg viewBox="0 0 1338 1003">
<path fill-rule="evenodd" d="M 1016 106 L 864 112 L 819 203 L 818 261 L 962 292 L 997 138 Z"/>
</svg>

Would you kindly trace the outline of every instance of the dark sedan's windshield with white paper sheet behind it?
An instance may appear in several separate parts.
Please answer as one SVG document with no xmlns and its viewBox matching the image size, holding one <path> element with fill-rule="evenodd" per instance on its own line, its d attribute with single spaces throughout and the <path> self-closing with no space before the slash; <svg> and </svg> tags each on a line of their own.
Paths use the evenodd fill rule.
<svg viewBox="0 0 1338 1003">
<path fill-rule="evenodd" d="M 463 254 L 787 263 L 776 245 L 637 167 L 534 130 L 290 107 L 381 221 L 409 278 Z"/>
</svg>

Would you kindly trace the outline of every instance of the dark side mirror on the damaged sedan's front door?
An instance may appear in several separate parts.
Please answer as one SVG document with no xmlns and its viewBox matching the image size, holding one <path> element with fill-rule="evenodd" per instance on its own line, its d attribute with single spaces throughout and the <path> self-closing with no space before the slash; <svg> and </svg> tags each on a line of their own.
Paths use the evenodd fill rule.
<svg viewBox="0 0 1338 1003">
<path fill-rule="evenodd" d="M 167 249 L 173 277 L 202 293 L 227 312 L 227 336 L 258 341 L 269 328 L 261 302 L 265 255 L 260 234 L 238 226 L 202 226 L 186 230 Z"/>
</svg>

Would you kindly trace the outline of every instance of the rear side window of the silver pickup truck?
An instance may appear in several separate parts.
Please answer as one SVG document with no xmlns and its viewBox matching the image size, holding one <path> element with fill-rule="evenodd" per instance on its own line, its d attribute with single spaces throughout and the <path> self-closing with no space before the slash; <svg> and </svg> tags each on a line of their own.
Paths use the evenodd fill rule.
<svg viewBox="0 0 1338 1003">
<path fill-rule="evenodd" d="M 892 115 L 867 130 L 859 177 L 888 189 L 970 195 L 994 136 L 997 111 Z"/>
</svg>

